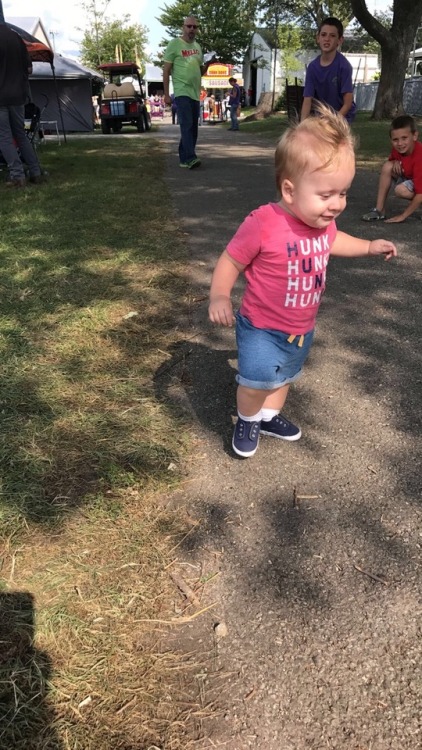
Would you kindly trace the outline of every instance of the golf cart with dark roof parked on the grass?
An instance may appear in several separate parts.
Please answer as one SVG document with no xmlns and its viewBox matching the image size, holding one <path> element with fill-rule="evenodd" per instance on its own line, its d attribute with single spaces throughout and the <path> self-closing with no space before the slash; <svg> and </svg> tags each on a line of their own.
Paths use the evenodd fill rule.
<svg viewBox="0 0 422 750">
<path fill-rule="evenodd" d="M 102 132 L 120 133 L 123 125 L 136 125 L 138 133 L 149 130 L 151 118 L 136 63 L 105 63 L 99 68 L 108 76 L 100 100 Z"/>
</svg>

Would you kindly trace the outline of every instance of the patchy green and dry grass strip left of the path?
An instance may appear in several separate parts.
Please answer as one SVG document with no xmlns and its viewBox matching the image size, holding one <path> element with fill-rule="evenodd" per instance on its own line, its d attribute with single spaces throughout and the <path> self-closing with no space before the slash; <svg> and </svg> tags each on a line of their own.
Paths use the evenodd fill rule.
<svg viewBox="0 0 422 750">
<path fill-rule="evenodd" d="M 0 747 L 181 750 L 195 678 L 148 624 L 189 528 L 157 502 L 191 441 L 154 388 L 187 283 L 164 154 L 39 154 L 46 184 L 0 184 Z"/>
</svg>

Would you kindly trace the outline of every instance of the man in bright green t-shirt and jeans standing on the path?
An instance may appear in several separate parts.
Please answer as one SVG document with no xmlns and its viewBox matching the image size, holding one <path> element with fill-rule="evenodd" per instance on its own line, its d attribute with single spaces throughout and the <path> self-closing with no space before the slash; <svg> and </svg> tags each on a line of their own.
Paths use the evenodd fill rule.
<svg viewBox="0 0 422 750">
<path fill-rule="evenodd" d="M 201 76 L 211 60 L 205 65 L 200 45 L 195 41 L 198 21 L 193 16 L 185 18 L 182 35 L 172 39 L 164 53 L 164 101 L 171 104 L 170 76 L 173 81 L 177 117 L 180 126 L 180 166 L 187 169 L 199 167 L 195 147 L 198 138 L 199 96 Z"/>
</svg>

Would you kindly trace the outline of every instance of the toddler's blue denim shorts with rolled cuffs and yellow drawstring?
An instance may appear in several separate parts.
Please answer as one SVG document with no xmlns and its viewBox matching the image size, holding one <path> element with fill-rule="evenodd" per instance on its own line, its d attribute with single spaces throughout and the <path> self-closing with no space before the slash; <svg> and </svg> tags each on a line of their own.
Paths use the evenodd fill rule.
<svg viewBox="0 0 422 750">
<path fill-rule="evenodd" d="M 302 374 L 302 365 L 308 357 L 313 337 L 313 331 L 293 337 L 281 331 L 255 328 L 238 312 L 236 341 L 239 373 L 236 381 L 239 385 L 260 391 L 293 383 Z"/>
</svg>

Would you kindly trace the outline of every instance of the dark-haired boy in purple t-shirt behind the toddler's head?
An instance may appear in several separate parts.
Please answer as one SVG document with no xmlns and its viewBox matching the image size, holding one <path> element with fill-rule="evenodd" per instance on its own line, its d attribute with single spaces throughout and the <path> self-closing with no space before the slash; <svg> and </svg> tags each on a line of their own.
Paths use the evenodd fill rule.
<svg viewBox="0 0 422 750">
<path fill-rule="evenodd" d="M 325 18 L 318 31 L 317 42 L 321 54 L 306 70 L 301 119 L 312 111 L 312 100 L 317 99 L 332 107 L 351 123 L 356 104 L 353 101 L 352 66 L 338 51 L 343 41 L 343 24 L 337 18 Z"/>
</svg>

